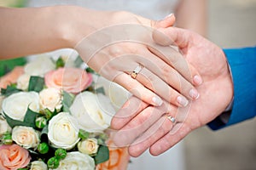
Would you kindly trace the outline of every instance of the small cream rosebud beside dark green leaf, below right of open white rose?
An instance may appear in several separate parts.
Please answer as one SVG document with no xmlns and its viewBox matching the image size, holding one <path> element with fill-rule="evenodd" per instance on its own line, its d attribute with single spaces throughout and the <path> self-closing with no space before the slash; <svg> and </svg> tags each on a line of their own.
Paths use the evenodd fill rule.
<svg viewBox="0 0 256 170">
<path fill-rule="evenodd" d="M 85 139 L 79 142 L 78 148 L 80 152 L 92 155 L 97 153 L 99 144 L 97 142 L 97 139 Z"/>
</svg>

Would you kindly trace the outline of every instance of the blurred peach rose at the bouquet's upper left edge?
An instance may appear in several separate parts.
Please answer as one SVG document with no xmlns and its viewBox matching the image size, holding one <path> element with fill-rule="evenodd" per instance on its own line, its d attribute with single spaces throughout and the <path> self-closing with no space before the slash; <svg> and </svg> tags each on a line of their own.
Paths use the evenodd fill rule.
<svg viewBox="0 0 256 170">
<path fill-rule="evenodd" d="M 11 83 L 17 82 L 20 75 L 24 73 L 22 66 L 16 66 L 13 71 L 10 71 L 6 75 L 0 78 L 0 88 L 7 88 Z"/>
</svg>

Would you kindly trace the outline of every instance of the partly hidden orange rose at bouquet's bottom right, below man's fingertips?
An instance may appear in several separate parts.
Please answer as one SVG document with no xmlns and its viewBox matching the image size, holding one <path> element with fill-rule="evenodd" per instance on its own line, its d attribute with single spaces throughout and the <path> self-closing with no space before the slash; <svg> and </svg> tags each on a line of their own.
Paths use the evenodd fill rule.
<svg viewBox="0 0 256 170">
<path fill-rule="evenodd" d="M 109 160 L 96 166 L 96 170 L 120 170 L 127 169 L 130 156 L 127 148 L 113 147 L 113 141 L 108 141 Z"/>
</svg>

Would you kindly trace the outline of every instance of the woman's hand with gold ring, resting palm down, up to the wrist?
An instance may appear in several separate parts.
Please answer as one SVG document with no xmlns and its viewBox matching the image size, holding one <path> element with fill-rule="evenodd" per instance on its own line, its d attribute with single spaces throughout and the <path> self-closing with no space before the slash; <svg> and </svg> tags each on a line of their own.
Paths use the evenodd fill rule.
<svg viewBox="0 0 256 170">
<path fill-rule="evenodd" d="M 154 21 L 128 12 L 77 7 L 75 11 L 72 16 L 77 20 L 70 28 L 73 46 L 103 77 L 151 105 L 161 105 L 165 99 L 186 106 L 189 99 L 199 97 L 194 88 L 201 84 L 198 72 L 176 53 L 177 49 L 162 48 L 152 39 L 154 28 L 172 26 L 173 15 Z"/>
</svg>

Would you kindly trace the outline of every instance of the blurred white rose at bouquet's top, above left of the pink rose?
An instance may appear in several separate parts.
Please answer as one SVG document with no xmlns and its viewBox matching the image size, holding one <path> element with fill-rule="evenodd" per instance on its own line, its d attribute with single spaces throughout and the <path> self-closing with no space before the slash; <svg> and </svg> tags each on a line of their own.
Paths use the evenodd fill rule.
<svg viewBox="0 0 256 170">
<path fill-rule="evenodd" d="M 55 64 L 47 54 L 39 54 L 37 58 L 25 65 L 24 71 L 30 76 L 44 77 L 44 74 L 55 70 Z"/>
</svg>

